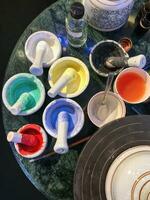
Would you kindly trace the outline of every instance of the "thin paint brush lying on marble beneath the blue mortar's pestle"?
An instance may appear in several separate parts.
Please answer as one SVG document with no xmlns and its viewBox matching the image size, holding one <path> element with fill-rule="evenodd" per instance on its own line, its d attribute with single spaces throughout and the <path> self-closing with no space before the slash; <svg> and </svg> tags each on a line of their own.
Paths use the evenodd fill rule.
<svg viewBox="0 0 150 200">
<path fill-rule="evenodd" d="M 70 144 L 70 145 L 69 145 L 69 148 L 73 148 L 73 147 L 76 147 L 76 146 L 78 146 L 78 145 L 80 145 L 80 144 L 82 144 L 82 143 L 84 143 L 84 142 L 87 142 L 91 137 L 92 137 L 92 136 L 87 136 L 87 137 L 85 137 L 85 138 L 82 138 L 81 140 L 78 140 L 77 142 L 74 142 L 74 143 Z M 29 162 L 32 163 L 32 162 L 35 162 L 35 161 L 39 161 L 39 160 L 48 158 L 48 157 L 50 157 L 50 156 L 53 156 L 53 155 L 55 155 L 55 154 L 56 154 L 56 152 L 52 151 L 52 152 L 50 152 L 50 153 L 48 153 L 48 154 L 45 154 L 45 155 L 43 155 L 43 156 L 41 156 L 41 157 L 38 157 L 38 158 L 35 158 L 35 159 L 31 159 Z"/>
</svg>

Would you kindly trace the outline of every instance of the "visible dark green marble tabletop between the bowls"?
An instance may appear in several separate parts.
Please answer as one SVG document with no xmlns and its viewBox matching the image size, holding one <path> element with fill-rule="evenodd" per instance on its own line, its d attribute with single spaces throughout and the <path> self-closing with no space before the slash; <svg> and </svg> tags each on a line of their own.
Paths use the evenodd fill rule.
<svg viewBox="0 0 150 200">
<path fill-rule="evenodd" d="M 9 64 L 6 69 L 5 81 L 10 78 L 12 75 L 20 72 L 29 72 L 29 66 L 31 63 L 27 60 L 24 53 L 24 44 L 26 39 L 35 31 L 47 30 L 55 33 L 59 37 L 65 38 L 65 15 L 67 8 L 65 5 L 66 0 L 59 0 L 46 10 L 44 10 L 24 31 L 20 37 L 14 51 L 11 55 Z M 143 36 L 139 36 L 134 31 L 134 19 L 136 12 L 140 7 L 143 0 L 136 0 L 133 12 L 129 18 L 129 23 L 127 23 L 123 28 L 112 33 L 100 33 L 93 28 L 88 28 L 88 41 L 96 43 L 103 39 L 114 39 L 118 41 L 123 36 L 129 36 L 133 40 L 133 50 L 130 55 L 144 53 L 146 56 L 150 54 L 150 37 L 149 33 L 146 33 Z M 106 80 L 102 77 L 99 77 L 91 69 L 89 60 L 88 60 L 88 50 L 90 45 L 93 43 L 88 43 L 88 48 L 85 46 L 82 49 L 73 49 L 69 46 L 66 46 L 66 43 L 63 44 L 63 54 L 74 56 L 83 60 L 89 68 L 90 71 L 90 84 L 86 91 L 77 98 L 74 98 L 84 109 L 85 111 L 85 125 L 80 134 L 74 139 L 69 140 L 69 143 L 79 140 L 88 135 L 94 134 L 97 128 L 92 125 L 89 121 L 86 114 L 86 106 L 89 99 L 98 91 L 101 91 L 105 87 Z M 49 85 L 47 81 L 46 69 L 44 75 L 40 77 L 41 81 L 44 83 L 46 90 L 48 90 Z M 3 124 L 5 132 L 7 133 L 10 130 L 18 130 L 21 126 L 27 123 L 37 123 L 42 125 L 42 113 L 46 105 L 52 101 L 51 98 L 46 97 L 43 107 L 34 115 L 20 117 L 13 116 L 11 113 L 2 106 L 3 110 Z M 149 103 L 135 105 L 134 108 L 131 105 L 127 105 L 127 115 L 135 115 L 136 112 L 141 114 L 150 114 Z M 135 111 L 136 109 L 136 111 Z M 45 153 L 52 151 L 55 140 L 49 136 L 49 144 Z M 79 145 L 76 148 L 73 148 L 66 155 L 54 155 L 47 159 L 30 163 L 29 160 L 20 157 L 13 145 L 11 145 L 12 152 L 15 155 L 15 158 L 22 168 L 25 175 L 33 183 L 33 185 L 41 191 L 48 199 L 50 200 L 72 200 L 73 199 L 73 176 L 78 160 L 78 156 L 84 145 Z"/>
</svg>

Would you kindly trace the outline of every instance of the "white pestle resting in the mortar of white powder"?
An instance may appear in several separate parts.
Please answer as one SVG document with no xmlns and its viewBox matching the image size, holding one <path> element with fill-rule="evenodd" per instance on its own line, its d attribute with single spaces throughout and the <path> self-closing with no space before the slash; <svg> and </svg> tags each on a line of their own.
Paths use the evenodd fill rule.
<svg viewBox="0 0 150 200">
<path fill-rule="evenodd" d="M 39 41 L 36 46 L 34 63 L 31 65 L 29 71 L 35 76 L 41 76 L 43 74 L 43 57 L 49 48 L 47 42 Z"/>
</svg>

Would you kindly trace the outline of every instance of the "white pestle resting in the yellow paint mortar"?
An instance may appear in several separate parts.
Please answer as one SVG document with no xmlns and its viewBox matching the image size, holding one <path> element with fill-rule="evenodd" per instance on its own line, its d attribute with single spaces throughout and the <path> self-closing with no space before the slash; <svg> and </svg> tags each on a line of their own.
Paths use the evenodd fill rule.
<svg viewBox="0 0 150 200">
<path fill-rule="evenodd" d="M 77 72 L 73 68 L 66 69 L 54 86 L 47 92 L 48 96 L 52 98 L 56 97 L 63 87 L 75 78 L 76 74 Z"/>
</svg>

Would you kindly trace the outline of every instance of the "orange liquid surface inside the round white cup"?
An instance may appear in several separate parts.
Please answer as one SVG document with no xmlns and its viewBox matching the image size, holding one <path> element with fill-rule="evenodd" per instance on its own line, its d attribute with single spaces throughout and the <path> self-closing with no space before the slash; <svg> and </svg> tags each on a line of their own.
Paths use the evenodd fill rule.
<svg viewBox="0 0 150 200">
<path fill-rule="evenodd" d="M 116 82 L 119 95 L 128 102 L 140 101 L 146 91 L 145 80 L 135 72 L 127 72 Z"/>
</svg>

